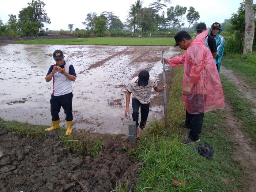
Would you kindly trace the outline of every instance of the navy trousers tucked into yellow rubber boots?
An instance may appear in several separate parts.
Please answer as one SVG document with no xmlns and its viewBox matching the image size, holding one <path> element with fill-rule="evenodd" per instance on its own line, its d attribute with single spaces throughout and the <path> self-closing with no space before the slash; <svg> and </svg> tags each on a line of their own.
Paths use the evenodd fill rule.
<svg viewBox="0 0 256 192">
<path fill-rule="evenodd" d="M 72 99 L 73 99 L 72 92 L 65 95 L 60 95 L 60 96 L 53 96 L 53 95 L 51 96 L 50 104 L 51 104 L 52 121 L 57 121 L 60 119 L 59 112 L 61 107 L 64 109 L 64 113 L 67 115 L 66 121 L 73 120 Z"/>
</svg>

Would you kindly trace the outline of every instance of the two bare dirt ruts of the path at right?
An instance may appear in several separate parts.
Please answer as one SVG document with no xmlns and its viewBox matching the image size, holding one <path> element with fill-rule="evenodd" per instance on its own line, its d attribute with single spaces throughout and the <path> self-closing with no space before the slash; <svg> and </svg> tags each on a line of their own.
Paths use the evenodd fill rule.
<svg viewBox="0 0 256 192">
<path fill-rule="evenodd" d="M 222 66 L 221 74 L 225 75 L 232 83 L 239 87 L 239 90 L 244 97 L 251 101 L 256 106 L 256 90 L 250 87 L 244 80 L 235 75 L 233 71 Z M 255 108 L 252 109 L 255 112 Z M 241 166 L 245 169 L 246 183 L 249 186 L 248 192 L 256 191 L 256 148 L 252 146 L 250 135 L 240 131 L 237 127 L 240 124 L 235 117 L 232 116 L 232 106 L 227 104 L 225 107 L 225 123 L 228 126 L 229 136 L 236 142 L 236 150 L 233 151 L 235 159 L 240 161 Z M 233 120 L 232 120 L 233 119 Z"/>
</svg>

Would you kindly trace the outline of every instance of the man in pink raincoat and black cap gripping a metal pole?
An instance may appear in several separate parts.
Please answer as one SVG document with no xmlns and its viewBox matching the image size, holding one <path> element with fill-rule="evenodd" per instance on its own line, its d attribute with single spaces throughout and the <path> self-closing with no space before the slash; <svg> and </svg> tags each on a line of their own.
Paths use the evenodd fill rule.
<svg viewBox="0 0 256 192">
<path fill-rule="evenodd" d="M 204 113 L 225 107 L 221 79 L 216 64 L 204 39 L 208 29 L 192 40 L 186 31 L 179 31 L 174 39 L 175 46 L 186 52 L 171 59 L 163 58 L 171 66 L 184 65 L 182 99 L 186 106 L 186 120 L 183 128 L 190 130 L 181 143 L 199 142 Z"/>
</svg>

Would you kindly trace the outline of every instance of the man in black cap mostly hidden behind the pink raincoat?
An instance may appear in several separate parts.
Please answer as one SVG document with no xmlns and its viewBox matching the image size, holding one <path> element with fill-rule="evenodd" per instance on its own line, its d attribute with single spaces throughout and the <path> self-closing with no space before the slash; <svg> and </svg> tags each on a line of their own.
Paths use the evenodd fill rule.
<svg viewBox="0 0 256 192">
<path fill-rule="evenodd" d="M 206 31 L 206 29 L 207 27 L 205 23 L 199 23 L 196 26 L 196 32 L 198 35 Z M 217 45 L 214 37 L 212 37 L 211 35 L 207 35 L 206 38 L 204 39 L 204 45 L 211 50 L 211 54 L 214 59 L 217 56 Z"/>
</svg>

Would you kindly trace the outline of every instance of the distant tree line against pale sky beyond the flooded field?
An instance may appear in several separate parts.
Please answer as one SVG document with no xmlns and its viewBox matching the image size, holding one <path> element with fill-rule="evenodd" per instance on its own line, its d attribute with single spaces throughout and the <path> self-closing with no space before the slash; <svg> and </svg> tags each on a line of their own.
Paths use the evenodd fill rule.
<svg viewBox="0 0 256 192">
<path fill-rule="evenodd" d="M 113 12 L 102 12 L 100 15 L 95 12 L 87 14 L 84 22 L 85 29 L 90 33 L 95 33 L 97 37 L 103 37 L 105 31 L 117 32 L 122 30 L 137 32 L 157 32 L 157 31 L 170 31 L 173 29 L 180 29 L 184 26 L 184 20 L 187 18 L 189 27 L 192 23 L 196 22 L 200 16 L 199 12 L 195 11 L 195 8 L 176 7 L 170 6 L 167 8 L 167 17 L 165 12 L 159 14 L 167 4 L 170 4 L 170 0 L 155 0 L 149 5 L 149 7 L 143 7 L 142 0 L 136 0 L 134 4 L 131 4 L 128 10 L 128 18 L 126 22 L 121 22 L 118 16 Z M 16 15 L 9 15 L 8 22 L 3 24 L 0 20 L 0 35 L 8 36 L 38 36 L 41 35 L 44 30 L 45 24 L 50 24 L 50 18 L 46 14 L 44 9 L 45 3 L 41 0 L 32 0 L 28 3 L 28 6 L 19 11 L 18 17 Z M 187 15 L 185 15 L 187 13 Z M 68 28 L 72 31 L 74 24 L 68 24 Z M 80 29 L 76 28 L 75 31 Z"/>
</svg>

